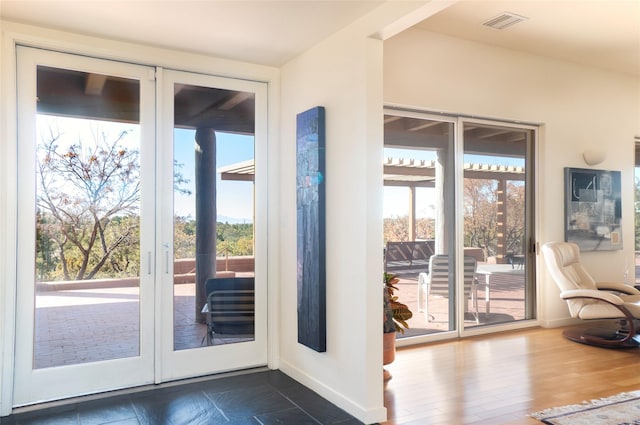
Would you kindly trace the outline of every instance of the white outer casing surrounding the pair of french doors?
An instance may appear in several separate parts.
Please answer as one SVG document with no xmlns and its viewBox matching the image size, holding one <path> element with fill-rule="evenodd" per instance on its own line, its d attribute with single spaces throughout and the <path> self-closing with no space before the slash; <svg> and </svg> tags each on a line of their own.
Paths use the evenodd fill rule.
<svg viewBox="0 0 640 425">
<path fill-rule="evenodd" d="M 267 85 L 269 116 L 266 118 L 268 127 L 268 139 L 271 145 L 267 149 L 267 141 L 259 144 L 256 150 L 256 159 L 264 161 L 263 166 L 256 170 L 256 180 L 263 182 L 265 190 L 256 193 L 256 226 L 269 231 L 268 242 L 263 241 L 256 246 L 256 250 L 263 252 L 269 248 L 269 264 L 267 268 L 267 256 L 256 259 L 256 273 L 266 275 L 270 282 L 278 282 L 279 274 L 279 235 L 281 225 L 279 216 L 271 214 L 271 209 L 278 205 L 278 180 L 279 172 L 277 164 L 281 158 L 279 152 L 274 149 L 278 145 L 278 105 L 279 105 L 279 70 L 262 65 L 237 62 L 229 59 L 203 56 L 182 51 L 163 48 L 154 48 L 138 45 L 130 42 L 114 41 L 82 34 L 68 33 L 58 30 L 33 27 L 18 23 L 3 21 L 2 49 L 0 49 L 0 135 L 5 141 L 0 144 L 0 183 L 3 188 L 0 191 L 0 201 L 8 208 L 0 210 L 0 223 L 2 223 L 4 239 L 0 244 L 0 276 L 4 281 L 0 284 L 0 306 L 2 312 L 0 319 L 0 416 L 11 414 L 13 407 L 13 382 L 15 376 L 15 317 L 16 317 L 16 292 L 18 269 L 16 264 L 17 241 L 17 201 L 18 201 L 18 170 L 17 170 L 17 70 L 16 50 L 19 45 L 32 46 L 43 49 L 51 49 L 60 52 L 77 53 L 86 56 L 98 56 L 108 60 L 125 61 L 129 63 L 161 66 L 173 69 L 182 69 L 196 73 L 211 73 L 215 71 L 219 75 L 234 77 L 249 81 L 262 82 Z M 265 120 L 264 117 L 257 117 Z M 262 124 L 261 124 L 262 125 Z M 275 142 L 274 142 L 275 141 Z M 264 149 L 264 151 L 262 151 Z M 268 151 L 268 160 L 267 160 Z M 267 166 L 270 165 L 269 166 Z M 269 193 L 269 195 L 267 195 Z M 267 199 L 269 202 L 267 202 Z M 278 308 L 279 299 L 277 291 L 271 286 L 268 290 L 268 303 L 271 308 L 268 311 L 268 364 L 271 369 L 278 367 L 279 357 L 279 328 Z M 158 353 L 159 351 L 157 351 Z"/>
</svg>

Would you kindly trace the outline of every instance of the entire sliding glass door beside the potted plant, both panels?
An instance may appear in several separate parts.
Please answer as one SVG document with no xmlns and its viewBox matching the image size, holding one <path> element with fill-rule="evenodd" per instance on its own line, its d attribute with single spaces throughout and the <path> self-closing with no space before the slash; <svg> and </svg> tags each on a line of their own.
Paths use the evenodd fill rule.
<svg viewBox="0 0 640 425">
<path fill-rule="evenodd" d="M 534 140 L 526 126 L 386 111 L 385 270 L 413 311 L 400 338 L 535 318 Z"/>
</svg>

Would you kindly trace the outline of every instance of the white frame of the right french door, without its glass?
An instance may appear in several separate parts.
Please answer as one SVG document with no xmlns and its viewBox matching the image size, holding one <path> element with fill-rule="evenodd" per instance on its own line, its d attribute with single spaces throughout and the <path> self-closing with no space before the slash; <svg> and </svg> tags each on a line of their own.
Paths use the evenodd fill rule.
<svg viewBox="0 0 640 425">
<path fill-rule="evenodd" d="M 267 154 L 267 86 L 254 81 L 237 80 L 175 70 L 159 70 L 159 98 L 163 99 L 158 120 L 157 169 L 173 169 L 174 83 L 221 88 L 255 94 L 255 170 L 254 181 L 254 259 L 255 259 L 255 334 L 253 341 L 198 347 L 174 351 L 173 347 L 173 173 L 159 173 L 159 231 L 156 269 L 161 286 L 159 310 L 162 325 L 156 331 L 156 382 L 225 372 L 267 364 L 267 232 L 261 211 L 266 210 L 267 185 L 262 169 Z M 168 168 L 169 167 L 169 168 Z M 168 264 L 167 264 L 168 261 Z M 171 332 L 168 332 L 171 330 Z M 160 332 L 160 334 L 158 334 Z M 171 337 L 169 337 L 171 336 Z M 215 360 L 214 360 L 215 359 Z"/>
</svg>

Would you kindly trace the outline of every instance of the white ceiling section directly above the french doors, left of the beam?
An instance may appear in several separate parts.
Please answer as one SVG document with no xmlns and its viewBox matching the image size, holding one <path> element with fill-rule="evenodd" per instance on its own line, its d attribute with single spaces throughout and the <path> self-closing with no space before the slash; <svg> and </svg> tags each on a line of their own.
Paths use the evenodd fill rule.
<svg viewBox="0 0 640 425">
<path fill-rule="evenodd" d="M 381 1 L 0 0 L 0 17 L 280 66 Z"/>
</svg>

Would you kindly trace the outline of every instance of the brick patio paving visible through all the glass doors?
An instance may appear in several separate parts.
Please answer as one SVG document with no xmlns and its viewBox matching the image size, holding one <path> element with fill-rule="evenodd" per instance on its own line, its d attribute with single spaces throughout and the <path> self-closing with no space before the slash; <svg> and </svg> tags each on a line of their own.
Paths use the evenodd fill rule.
<svg viewBox="0 0 640 425">
<path fill-rule="evenodd" d="M 418 312 L 417 286 L 420 270 L 399 273 L 397 295 L 414 313 L 410 329 L 399 337 L 442 332 L 448 328 L 448 301 L 432 298 L 427 322 Z M 636 265 L 636 275 L 640 267 Z M 524 319 L 524 276 L 494 275 L 491 278 L 491 312 L 485 314 L 484 292 L 479 292 L 480 325 Z M 482 288 L 482 287 L 481 287 Z M 195 323 L 194 284 L 175 285 L 176 350 L 200 347 L 206 326 Z M 39 292 L 36 300 L 34 365 L 36 368 L 86 363 L 138 354 L 138 288 L 95 288 Z M 472 319 L 471 317 L 468 317 Z M 465 327 L 477 326 L 466 320 Z M 214 344 L 237 342 L 215 339 Z"/>
</svg>

